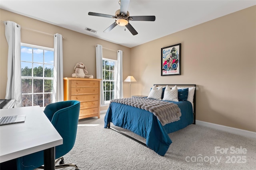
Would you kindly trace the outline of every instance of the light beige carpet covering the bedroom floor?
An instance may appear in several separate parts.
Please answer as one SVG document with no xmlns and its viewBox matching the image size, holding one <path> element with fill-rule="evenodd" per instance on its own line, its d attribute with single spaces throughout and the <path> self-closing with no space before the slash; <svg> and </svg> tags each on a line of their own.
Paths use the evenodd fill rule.
<svg viewBox="0 0 256 170">
<path fill-rule="evenodd" d="M 169 136 L 173 143 L 166 155 L 160 156 L 112 129 L 104 129 L 102 114 L 100 119 L 79 120 L 75 146 L 64 158 L 80 170 L 255 170 L 254 138 L 201 125 L 189 125 Z"/>
</svg>

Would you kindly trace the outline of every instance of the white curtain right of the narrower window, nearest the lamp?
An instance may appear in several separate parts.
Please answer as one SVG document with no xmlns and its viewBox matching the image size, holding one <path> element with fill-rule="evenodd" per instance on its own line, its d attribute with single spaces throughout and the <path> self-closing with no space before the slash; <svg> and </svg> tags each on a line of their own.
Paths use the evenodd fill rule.
<svg viewBox="0 0 256 170">
<path fill-rule="evenodd" d="M 123 51 L 117 51 L 117 68 L 115 71 L 116 99 L 124 98 L 123 94 Z"/>
</svg>

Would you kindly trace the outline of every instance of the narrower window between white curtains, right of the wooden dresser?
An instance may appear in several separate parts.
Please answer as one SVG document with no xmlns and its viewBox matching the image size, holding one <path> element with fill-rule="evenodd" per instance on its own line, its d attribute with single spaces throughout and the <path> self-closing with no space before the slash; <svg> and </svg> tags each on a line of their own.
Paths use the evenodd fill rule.
<svg viewBox="0 0 256 170">
<path fill-rule="evenodd" d="M 115 98 L 116 61 L 102 58 L 103 92 L 105 104 Z"/>
</svg>

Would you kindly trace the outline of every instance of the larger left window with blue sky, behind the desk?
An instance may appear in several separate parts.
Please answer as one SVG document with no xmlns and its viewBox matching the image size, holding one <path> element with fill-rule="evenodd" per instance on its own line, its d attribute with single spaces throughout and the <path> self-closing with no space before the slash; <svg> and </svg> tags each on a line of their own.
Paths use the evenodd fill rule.
<svg viewBox="0 0 256 170">
<path fill-rule="evenodd" d="M 21 43 L 22 107 L 52 102 L 54 49 Z"/>
</svg>

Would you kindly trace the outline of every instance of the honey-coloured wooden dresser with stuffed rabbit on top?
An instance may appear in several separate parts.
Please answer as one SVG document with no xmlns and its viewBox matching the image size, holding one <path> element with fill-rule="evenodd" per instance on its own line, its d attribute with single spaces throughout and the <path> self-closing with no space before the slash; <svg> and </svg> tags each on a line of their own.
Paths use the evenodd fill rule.
<svg viewBox="0 0 256 170">
<path fill-rule="evenodd" d="M 64 100 L 80 101 L 79 119 L 100 118 L 100 80 L 95 78 L 64 78 Z"/>
</svg>

